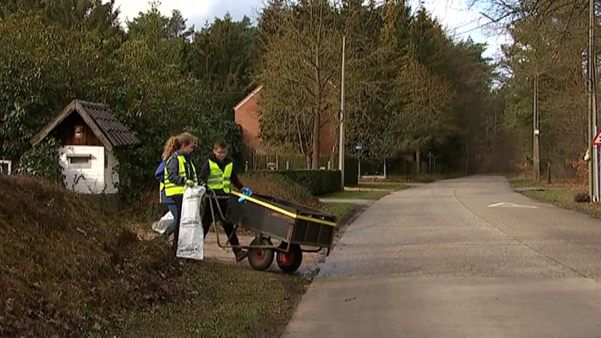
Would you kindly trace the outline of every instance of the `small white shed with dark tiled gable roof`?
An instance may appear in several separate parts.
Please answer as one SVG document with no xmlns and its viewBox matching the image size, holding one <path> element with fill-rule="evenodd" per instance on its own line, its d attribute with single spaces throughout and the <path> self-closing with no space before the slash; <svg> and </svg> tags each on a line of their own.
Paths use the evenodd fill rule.
<svg viewBox="0 0 601 338">
<path fill-rule="evenodd" d="M 65 185 L 82 194 L 115 194 L 119 183 L 115 148 L 135 146 L 133 136 L 102 103 L 73 100 L 30 141 L 48 135 L 61 143 L 59 164 Z"/>
</svg>

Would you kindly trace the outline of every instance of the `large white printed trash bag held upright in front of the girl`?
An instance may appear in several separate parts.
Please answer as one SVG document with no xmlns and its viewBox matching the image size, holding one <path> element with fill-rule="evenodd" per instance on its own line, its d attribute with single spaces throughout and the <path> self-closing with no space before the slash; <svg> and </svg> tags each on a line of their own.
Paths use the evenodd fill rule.
<svg viewBox="0 0 601 338">
<path fill-rule="evenodd" d="M 204 234 L 200 206 L 205 192 L 204 186 L 184 188 L 178 258 L 203 259 Z"/>
</svg>

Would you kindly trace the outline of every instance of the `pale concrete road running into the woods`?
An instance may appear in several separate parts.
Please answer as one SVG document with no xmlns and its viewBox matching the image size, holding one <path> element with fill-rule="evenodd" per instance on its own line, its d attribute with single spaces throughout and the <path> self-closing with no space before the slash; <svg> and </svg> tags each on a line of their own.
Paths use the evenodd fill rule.
<svg viewBox="0 0 601 338">
<path fill-rule="evenodd" d="M 601 337 L 601 221 L 504 177 L 395 192 L 351 224 L 284 337 Z"/>
</svg>

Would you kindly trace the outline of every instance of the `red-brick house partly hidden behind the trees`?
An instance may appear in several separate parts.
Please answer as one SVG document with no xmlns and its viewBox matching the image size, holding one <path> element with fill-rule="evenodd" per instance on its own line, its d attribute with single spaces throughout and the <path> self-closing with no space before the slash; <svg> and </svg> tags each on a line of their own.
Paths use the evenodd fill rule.
<svg viewBox="0 0 601 338">
<path fill-rule="evenodd" d="M 249 150 L 258 154 L 264 154 L 266 150 L 261 144 L 260 132 L 260 106 L 258 105 L 261 89 L 263 85 L 258 86 L 251 91 L 244 99 L 234 106 L 234 119 L 237 124 L 242 127 L 242 143 Z M 331 155 L 334 153 L 337 146 L 337 130 L 336 121 L 328 121 L 323 124 L 319 131 L 320 144 L 319 151 L 321 155 Z"/>
</svg>

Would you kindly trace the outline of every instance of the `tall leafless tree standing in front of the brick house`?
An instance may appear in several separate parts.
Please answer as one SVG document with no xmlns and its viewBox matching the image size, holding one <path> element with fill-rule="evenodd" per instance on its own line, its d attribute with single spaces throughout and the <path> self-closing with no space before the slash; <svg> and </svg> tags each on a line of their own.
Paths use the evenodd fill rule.
<svg viewBox="0 0 601 338">
<path fill-rule="evenodd" d="M 261 30 L 261 138 L 300 150 L 317 169 L 320 128 L 337 111 L 338 12 L 328 0 L 277 5 L 264 22 L 272 29 Z"/>
</svg>

